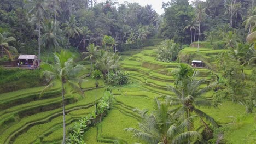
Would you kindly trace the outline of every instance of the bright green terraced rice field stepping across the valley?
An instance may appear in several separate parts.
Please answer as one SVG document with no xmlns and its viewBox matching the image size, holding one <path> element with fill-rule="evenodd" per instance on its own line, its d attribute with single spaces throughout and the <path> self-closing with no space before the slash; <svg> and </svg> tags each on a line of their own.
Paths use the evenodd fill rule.
<svg viewBox="0 0 256 144">
<path fill-rule="evenodd" d="M 195 52 L 194 48 L 184 51 Z M 200 53 L 209 53 L 211 49 L 200 48 Z M 216 52 L 213 52 L 214 55 Z M 131 133 L 124 131 L 127 127 L 138 127 L 140 117 L 133 109 L 153 110 L 153 99 L 162 95 L 173 95 L 168 85 L 173 86 L 172 70 L 178 63 L 165 63 L 155 60 L 155 47 L 146 47 L 141 52 L 130 51 L 120 53 L 121 69 L 129 71 L 131 83 L 122 87 L 112 87 L 115 103 L 103 121 L 85 133 L 85 143 L 136 143 Z M 208 55 L 208 54 L 207 54 Z M 128 57 L 129 56 L 129 57 Z M 205 79 L 206 86 L 212 81 L 212 71 L 200 71 L 200 78 Z M 95 81 L 88 78 L 82 83 L 85 97 L 73 94 L 66 86 L 66 121 L 72 127 L 78 118 L 94 111 L 95 92 L 100 99 L 105 88 L 100 81 L 100 88 L 95 89 Z M 60 143 L 62 140 L 62 110 L 60 83 L 51 91 L 39 98 L 43 87 L 22 89 L 16 92 L 0 94 L 0 144 L 2 143 Z M 202 96 L 212 99 L 213 91 Z M 237 109 L 237 107 L 239 109 Z M 226 115 L 237 116 L 245 111 L 245 107 L 226 102 L 219 109 L 229 111 L 220 113 L 218 109 L 203 107 L 203 111 L 217 119 L 220 124 L 232 122 Z M 68 128 L 67 128 L 68 129 Z"/>
</svg>

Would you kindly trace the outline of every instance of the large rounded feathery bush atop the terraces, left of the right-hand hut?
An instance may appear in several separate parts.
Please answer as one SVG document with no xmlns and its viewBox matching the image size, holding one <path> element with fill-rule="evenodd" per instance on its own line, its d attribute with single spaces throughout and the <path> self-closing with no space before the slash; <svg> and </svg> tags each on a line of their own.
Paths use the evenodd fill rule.
<svg viewBox="0 0 256 144">
<path fill-rule="evenodd" d="M 164 40 L 158 46 L 157 60 L 162 62 L 176 61 L 181 45 L 174 43 L 173 40 Z"/>
</svg>

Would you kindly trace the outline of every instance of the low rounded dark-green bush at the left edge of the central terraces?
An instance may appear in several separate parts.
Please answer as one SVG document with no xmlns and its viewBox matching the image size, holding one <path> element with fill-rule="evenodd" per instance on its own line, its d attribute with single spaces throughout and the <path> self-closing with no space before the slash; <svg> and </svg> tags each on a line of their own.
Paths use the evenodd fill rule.
<svg viewBox="0 0 256 144">
<path fill-rule="evenodd" d="M 129 73 L 127 71 L 117 70 L 112 73 L 109 73 L 108 83 L 111 85 L 125 85 L 129 82 Z"/>
</svg>

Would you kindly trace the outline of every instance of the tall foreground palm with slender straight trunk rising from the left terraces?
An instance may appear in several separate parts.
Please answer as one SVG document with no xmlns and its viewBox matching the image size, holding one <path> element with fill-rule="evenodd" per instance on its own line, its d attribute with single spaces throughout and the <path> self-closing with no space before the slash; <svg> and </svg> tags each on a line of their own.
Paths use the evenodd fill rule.
<svg viewBox="0 0 256 144">
<path fill-rule="evenodd" d="M 46 78 L 49 85 L 46 86 L 40 93 L 40 97 L 51 88 L 57 81 L 62 83 L 62 113 L 63 113 L 63 141 L 65 143 L 66 138 L 66 122 L 65 122 L 65 87 L 64 84 L 67 83 L 75 92 L 79 92 L 84 95 L 82 89 L 77 85 L 77 83 L 83 81 L 82 77 L 78 77 L 78 74 L 85 68 L 82 65 L 74 65 L 73 55 L 67 51 L 61 51 L 61 53 L 54 53 L 56 59 L 56 64 L 51 65 L 45 63 L 42 65 L 43 72 L 42 76 Z"/>
</svg>

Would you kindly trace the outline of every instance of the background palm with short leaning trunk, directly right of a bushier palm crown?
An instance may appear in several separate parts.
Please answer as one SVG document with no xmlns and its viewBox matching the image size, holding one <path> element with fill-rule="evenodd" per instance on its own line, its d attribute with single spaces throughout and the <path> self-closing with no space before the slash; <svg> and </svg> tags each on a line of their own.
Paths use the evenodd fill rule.
<svg viewBox="0 0 256 144">
<path fill-rule="evenodd" d="M 75 20 L 75 16 L 74 15 L 69 17 L 69 21 L 67 23 L 65 23 L 64 26 L 65 26 L 64 31 L 68 35 L 68 41 L 67 41 L 67 46 L 68 46 L 69 39 L 70 38 L 74 38 L 75 35 L 79 35 L 80 29 L 78 28 L 78 23 L 77 23 L 77 20 Z M 67 49 L 67 46 L 66 46 L 66 49 Z"/>
</svg>

